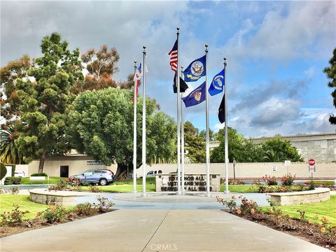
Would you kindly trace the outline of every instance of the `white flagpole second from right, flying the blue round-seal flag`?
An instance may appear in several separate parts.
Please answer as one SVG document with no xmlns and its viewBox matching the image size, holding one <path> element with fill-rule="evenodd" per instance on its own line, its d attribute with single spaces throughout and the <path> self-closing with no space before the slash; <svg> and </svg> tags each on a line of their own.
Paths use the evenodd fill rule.
<svg viewBox="0 0 336 252">
<path fill-rule="evenodd" d="M 205 62 L 207 64 L 207 69 L 205 69 L 205 115 L 206 115 L 206 159 L 207 159 L 207 197 L 210 197 L 210 148 L 209 148 L 209 84 L 208 84 L 208 46 L 205 45 Z"/>
</svg>

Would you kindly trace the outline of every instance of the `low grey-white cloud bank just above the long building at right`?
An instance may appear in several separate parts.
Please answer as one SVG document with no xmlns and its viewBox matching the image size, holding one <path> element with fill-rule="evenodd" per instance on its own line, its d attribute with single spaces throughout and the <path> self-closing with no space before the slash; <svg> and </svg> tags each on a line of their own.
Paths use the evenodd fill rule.
<svg viewBox="0 0 336 252">
<path fill-rule="evenodd" d="M 288 106 L 286 106 L 287 102 Z M 279 110 L 266 106 L 266 110 L 258 110 L 257 113 L 250 113 L 248 110 L 241 111 L 239 116 L 230 120 L 229 126 L 237 129 L 245 137 L 272 137 L 275 134 L 314 134 L 336 131 L 336 126 L 329 123 L 330 111 L 300 109 L 299 104 L 295 101 L 278 101 L 276 103 Z"/>
</svg>

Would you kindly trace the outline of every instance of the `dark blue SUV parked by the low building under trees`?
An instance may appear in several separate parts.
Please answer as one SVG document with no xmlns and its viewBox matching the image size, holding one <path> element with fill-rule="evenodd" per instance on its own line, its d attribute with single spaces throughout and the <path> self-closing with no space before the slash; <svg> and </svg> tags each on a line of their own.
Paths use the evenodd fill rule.
<svg viewBox="0 0 336 252">
<path fill-rule="evenodd" d="M 90 169 L 71 177 L 81 179 L 83 182 L 99 183 L 100 186 L 107 186 L 114 181 L 114 174 L 109 169 Z"/>
</svg>

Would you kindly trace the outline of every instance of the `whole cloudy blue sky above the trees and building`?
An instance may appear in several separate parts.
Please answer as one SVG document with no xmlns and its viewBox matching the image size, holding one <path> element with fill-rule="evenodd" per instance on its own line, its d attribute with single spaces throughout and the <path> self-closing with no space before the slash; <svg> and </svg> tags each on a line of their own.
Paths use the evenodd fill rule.
<svg viewBox="0 0 336 252">
<path fill-rule="evenodd" d="M 23 54 L 41 55 L 40 42 L 62 34 L 81 52 L 101 45 L 120 53 L 115 78 L 132 73 L 147 47 L 146 94 L 176 118 L 167 53 L 180 27 L 181 65 L 204 55 L 209 80 L 228 58 L 228 125 L 245 137 L 335 132 L 332 89 L 323 68 L 336 46 L 335 1 L 1 1 L 1 66 Z M 193 83 L 197 87 L 200 82 Z M 211 97 L 210 127 L 221 94 Z M 186 109 L 205 127 L 205 102 Z"/>
</svg>

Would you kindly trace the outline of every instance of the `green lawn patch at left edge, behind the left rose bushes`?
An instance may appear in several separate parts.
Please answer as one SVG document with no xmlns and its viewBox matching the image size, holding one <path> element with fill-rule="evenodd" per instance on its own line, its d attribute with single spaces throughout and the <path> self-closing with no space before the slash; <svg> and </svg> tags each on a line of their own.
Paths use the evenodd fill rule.
<svg viewBox="0 0 336 252">
<path fill-rule="evenodd" d="M 18 204 L 21 211 L 29 211 L 29 214 L 25 214 L 24 218 L 34 218 L 38 211 L 48 208 L 45 204 L 31 202 L 28 195 L 0 195 L 1 213 L 12 210 L 13 204 Z"/>
</svg>

